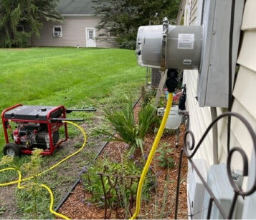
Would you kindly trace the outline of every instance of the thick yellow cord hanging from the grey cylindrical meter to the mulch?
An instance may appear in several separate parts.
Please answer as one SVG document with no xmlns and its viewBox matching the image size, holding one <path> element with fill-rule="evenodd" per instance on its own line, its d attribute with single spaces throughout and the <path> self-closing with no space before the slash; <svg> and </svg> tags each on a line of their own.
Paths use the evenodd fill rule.
<svg viewBox="0 0 256 220">
<path fill-rule="evenodd" d="M 137 191 L 137 196 L 136 196 L 136 211 L 134 212 L 133 216 L 131 217 L 131 219 L 136 219 L 138 214 L 140 213 L 140 210 L 141 210 L 141 192 L 142 192 L 142 187 L 143 187 L 143 183 L 144 183 L 144 180 L 145 180 L 145 177 L 146 177 L 146 174 L 148 173 L 148 168 L 153 160 L 153 156 L 155 155 L 156 153 L 156 148 L 159 144 L 159 141 L 161 139 L 161 136 L 163 135 L 163 130 L 166 126 L 166 121 L 168 119 L 168 116 L 169 116 L 169 112 L 171 110 L 171 104 L 172 104 L 172 101 L 173 101 L 173 94 L 170 93 L 169 94 L 169 98 L 168 98 L 168 101 L 167 101 L 167 105 L 166 105 L 166 111 L 164 112 L 163 114 L 163 119 L 162 119 L 162 122 L 161 122 L 161 125 L 160 125 L 160 128 L 156 134 L 156 139 L 153 141 L 153 145 L 152 145 L 152 149 L 148 155 L 148 159 L 146 161 L 146 164 L 143 168 L 143 171 L 142 171 L 142 174 L 141 174 L 141 179 L 138 183 L 138 191 Z"/>
</svg>

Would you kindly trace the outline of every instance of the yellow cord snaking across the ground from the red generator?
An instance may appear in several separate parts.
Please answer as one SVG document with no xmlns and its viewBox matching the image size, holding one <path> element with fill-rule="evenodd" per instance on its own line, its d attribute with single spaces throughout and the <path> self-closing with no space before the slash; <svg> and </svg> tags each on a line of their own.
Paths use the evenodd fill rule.
<svg viewBox="0 0 256 220">
<path fill-rule="evenodd" d="M 72 121 L 64 121 L 64 122 L 66 122 L 66 123 L 68 123 L 68 124 L 72 124 L 72 125 L 74 125 L 74 126 L 77 126 L 77 128 L 80 129 L 80 131 L 82 131 L 82 134 L 83 134 L 83 136 L 84 136 L 85 139 L 84 139 L 84 142 L 83 142 L 81 148 L 78 149 L 77 151 L 75 151 L 75 153 L 70 154 L 69 156 L 65 157 L 65 159 L 62 159 L 62 160 L 61 160 L 60 162 L 58 162 L 57 164 L 54 164 L 54 166 L 51 166 L 49 169 L 47 169 L 47 170 L 45 170 L 45 171 L 42 171 L 42 173 L 36 174 L 36 175 L 34 175 L 34 176 L 29 176 L 29 177 L 27 177 L 27 178 L 25 178 L 25 179 L 22 179 L 22 172 L 19 171 L 19 170 L 17 170 L 17 169 L 15 169 L 15 168 L 13 168 L 13 167 L 1 169 L 1 170 L 0 170 L 0 173 L 1 173 L 1 172 L 4 172 L 4 171 L 8 171 L 8 170 L 16 170 L 16 171 L 18 172 L 18 174 L 19 174 L 19 179 L 16 180 L 16 181 L 10 181 L 10 182 L 8 182 L 8 183 L 0 184 L 0 186 L 10 186 L 10 185 L 13 185 L 13 184 L 18 184 L 18 188 L 19 188 L 19 189 L 24 189 L 25 186 L 21 186 L 21 183 L 22 183 L 22 182 L 28 181 L 28 180 L 30 180 L 30 179 L 33 179 L 34 177 L 41 176 L 42 174 L 45 174 L 45 173 L 47 173 L 48 171 L 51 171 L 52 169 L 54 169 L 54 168 L 56 168 L 57 166 L 59 166 L 60 164 L 62 164 L 64 161 L 67 161 L 67 159 L 70 159 L 70 157 L 75 156 L 75 154 L 78 154 L 80 151 L 82 151 L 82 149 L 85 147 L 86 139 L 87 139 L 86 134 L 85 134 L 85 131 L 82 129 L 81 126 L 79 126 L 78 124 L 73 123 Z M 62 218 L 62 219 L 69 219 L 67 216 L 64 216 L 64 215 L 62 215 L 62 214 L 60 214 L 60 213 L 57 213 L 57 212 L 55 212 L 55 211 L 53 210 L 54 196 L 53 196 L 53 194 L 52 194 L 52 190 L 49 189 L 49 187 L 48 187 L 47 185 L 41 184 L 40 186 L 43 187 L 44 189 L 47 189 L 47 191 L 49 192 L 49 195 L 51 196 L 51 204 L 50 204 L 50 206 L 49 206 L 49 211 L 50 211 L 52 214 L 54 214 L 55 216 L 58 216 L 58 217 L 60 217 L 60 218 Z"/>
</svg>

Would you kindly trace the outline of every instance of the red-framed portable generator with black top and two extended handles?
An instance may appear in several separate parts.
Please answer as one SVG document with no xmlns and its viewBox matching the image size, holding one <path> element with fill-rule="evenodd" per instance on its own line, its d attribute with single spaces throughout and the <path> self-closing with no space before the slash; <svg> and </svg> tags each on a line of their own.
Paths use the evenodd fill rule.
<svg viewBox="0 0 256 220">
<path fill-rule="evenodd" d="M 19 156 L 32 154 L 33 148 L 44 149 L 43 155 L 50 155 L 62 142 L 67 141 L 67 124 L 63 121 L 83 121 L 67 119 L 72 111 L 96 111 L 96 109 L 65 109 L 64 106 L 23 106 L 16 104 L 1 114 L 6 145 L 4 154 Z M 11 121 L 15 129 L 11 128 Z M 65 138 L 60 139 L 59 129 L 64 126 Z M 9 132 L 8 132 L 9 131 Z M 10 135 L 9 135 L 10 134 Z M 9 136 L 14 142 L 9 142 Z"/>
</svg>

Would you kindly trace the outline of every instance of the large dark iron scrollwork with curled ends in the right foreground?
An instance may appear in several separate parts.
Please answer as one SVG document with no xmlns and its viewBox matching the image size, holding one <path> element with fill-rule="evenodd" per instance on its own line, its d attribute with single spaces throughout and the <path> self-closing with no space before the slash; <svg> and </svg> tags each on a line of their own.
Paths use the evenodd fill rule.
<svg viewBox="0 0 256 220">
<path fill-rule="evenodd" d="M 209 206 L 208 206 L 208 211 L 207 211 L 207 219 L 210 219 L 210 217 L 211 217 L 211 211 L 212 211 L 213 204 L 215 204 L 215 206 L 219 210 L 219 213 L 222 215 L 223 219 L 232 219 L 232 215 L 234 213 L 234 207 L 237 203 L 237 197 L 238 196 L 243 196 L 243 197 L 250 196 L 251 194 L 253 194 L 256 191 L 256 175 L 255 175 L 255 179 L 253 181 L 253 184 L 252 184 L 251 188 L 248 189 L 247 191 L 243 191 L 243 189 L 241 187 L 237 186 L 237 184 L 235 184 L 235 182 L 233 180 L 232 171 L 231 171 L 231 162 L 232 162 L 232 156 L 233 156 L 234 152 L 236 152 L 236 151 L 238 153 L 240 153 L 241 156 L 242 156 L 242 162 L 243 162 L 242 175 L 243 176 L 248 176 L 247 155 L 245 154 L 245 151 L 243 149 L 241 149 L 240 147 L 234 146 L 232 149 L 230 149 L 229 154 L 227 156 L 227 175 L 228 175 L 229 182 L 232 186 L 232 189 L 234 191 L 232 204 L 231 204 L 231 207 L 230 207 L 228 215 L 227 215 L 226 212 L 224 211 L 223 207 L 221 206 L 221 204 L 217 200 L 216 196 L 214 196 L 214 194 L 213 194 L 212 190 L 210 189 L 209 185 L 204 180 L 202 174 L 200 174 L 199 169 L 196 167 L 196 165 L 194 164 L 194 162 L 192 160 L 193 156 L 196 154 L 196 151 L 198 151 L 200 146 L 202 146 L 202 142 L 204 141 L 204 139 L 207 136 L 207 134 L 209 133 L 209 131 L 212 129 L 212 126 L 214 126 L 214 124 L 216 124 L 217 121 L 219 121 L 220 119 L 222 119 L 224 117 L 231 117 L 231 116 L 233 116 L 233 117 L 239 119 L 240 121 L 242 121 L 242 124 L 244 124 L 245 127 L 247 128 L 247 131 L 249 132 L 249 134 L 252 138 L 252 144 L 253 144 L 253 147 L 254 147 L 254 152 L 253 152 L 254 155 L 252 155 L 252 156 L 255 156 L 255 158 L 256 158 L 256 134 L 255 134 L 255 131 L 253 131 L 252 126 L 250 126 L 249 122 L 245 119 L 245 117 L 243 117 L 240 114 L 237 114 L 237 113 L 234 113 L 234 112 L 226 112 L 226 113 L 221 114 L 220 116 L 218 116 L 208 126 L 207 130 L 204 132 L 202 138 L 199 140 L 199 142 L 198 142 L 198 144 L 196 144 L 196 146 L 195 146 L 195 139 L 194 139 L 193 132 L 192 131 L 186 131 L 185 136 L 184 136 L 184 146 L 181 149 L 180 158 L 179 158 L 179 174 L 178 174 L 177 189 L 176 189 L 175 219 L 177 219 L 177 215 L 178 215 L 179 184 L 180 184 L 180 179 L 181 179 L 181 164 L 182 164 L 183 154 L 185 154 L 186 158 L 189 160 L 189 163 L 193 167 L 194 171 L 196 171 L 196 174 L 199 176 L 199 178 L 202 181 L 202 184 L 204 184 L 205 189 L 209 193 L 210 199 L 209 199 Z M 189 143 L 189 141 L 187 141 L 188 136 L 190 136 L 190 138 L 191 138 L 191 144 Z M 189 153 L 189 151 L 191 153 Z"/>
</svg>

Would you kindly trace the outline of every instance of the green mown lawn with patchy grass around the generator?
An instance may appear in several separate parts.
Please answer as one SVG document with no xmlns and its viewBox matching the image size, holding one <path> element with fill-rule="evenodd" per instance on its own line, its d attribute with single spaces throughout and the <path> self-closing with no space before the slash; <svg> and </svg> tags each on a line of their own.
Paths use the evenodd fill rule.
<svg viewBox="0 0 256 220">
<path fill-rule="evenodd" d="M 145 78 L 144 73 L 144 69 L 136 64 L 134 51 L 123 49 L 0 49 L 0 111 L 17 103 L 52 106 L 63 104 L 69 108 L 94 106 L 98 111 L 118 108 L 127 101 L 123 94 L 131 95 L 133 99 L 138 98 L 139 89 Z M 95 113 L 75 113 L 68 117 L 84 118 L 87 125 L 93 127 L 96 116 Z M 79 132 L 69 126 L 71 137 L 74 138 Z M 75 140 L 74 151 L 80 146 L 79 142 Z M 88 142 L 87 146 L 95 145 L 95 142 Z M 0 159 L 3 156 L 4 144 L 0 124 Z M 58 169 L 42 177 L 42 182 L 47 183 L 54 191 L 55 207 L 77 179 L 78 171 L 87 164 L 86 158 L 94 158 L 93 151 L 82 151 L 72 159 L 72 166 L 62 164 Z M 52 156 L 43 157 L 43 169 L 47 169 L 50 164 L 60 161 L 70 153 L 72 152 L 64 148 Z M 16 159 L 18 166 L 27 161 L 29 156 Z M 0 175 L 0 182 L 11 179 L 16 179 L 15 172 Z M 28 217 L 28 204 L 22 202 L 27 193 L 21 191 L 16 196 L 18 216 Z M 45 196 L 49 201 L 48 195 Z M 47 202 L 45 207 L 42 206 L 40 211 L 51 217 L 47 210 L 48 204 Z M 5 207 L 0 208 L 1 216 Z M 16 214 L 13 215 L 14 218 L 15 216 Z"/>
</svg>

